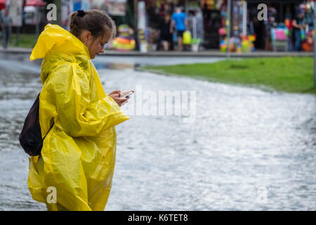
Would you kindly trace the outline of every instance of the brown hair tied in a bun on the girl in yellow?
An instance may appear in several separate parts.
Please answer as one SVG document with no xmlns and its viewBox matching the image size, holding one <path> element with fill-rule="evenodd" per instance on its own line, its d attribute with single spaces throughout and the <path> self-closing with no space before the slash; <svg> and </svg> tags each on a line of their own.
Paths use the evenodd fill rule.
<svg viewBox="0 0 316 225">
<path fill-rule="evenodd" d="M 70 14 L 70 32 L 79 38 L 81 32 L 88 30 L 92 36 L 97 39 L 103 36 L 106 28 L 112 30 L 112 37 L 114 39 L 117 34 L 117 27 L 105 11 L 97 9 L 89 11 L 76 11 Z"/>
</svg>

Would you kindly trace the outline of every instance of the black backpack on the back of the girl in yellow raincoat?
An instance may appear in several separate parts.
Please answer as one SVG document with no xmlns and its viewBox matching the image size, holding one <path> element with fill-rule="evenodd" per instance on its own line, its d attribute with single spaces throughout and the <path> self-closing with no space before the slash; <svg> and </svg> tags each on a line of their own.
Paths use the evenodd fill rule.
<svg viewBox="0 0 316 225">
<path fill-rule="evenodd" d="M 41 94 L 41 93 L 39 93 Z M 51 125 L 51 128 L 53 124 Z M 51 130 L 48 130 L 48 132 Z M 48 134 L 47 132 L 47 134 Z M 46 134 L 46 135 L 47 135 Z M 44 136 L 44 139 L 46 138 Z M 41 148 L 43 147 L 43 141 L 41 139 L 41 127 L 39 125 L 39 95 L 35 99 L 22 128 L 19 136 L 20 145 L 25 150 L 25 153 L 30 156 L 36 156 L 41 154 Z"/>
</svg>

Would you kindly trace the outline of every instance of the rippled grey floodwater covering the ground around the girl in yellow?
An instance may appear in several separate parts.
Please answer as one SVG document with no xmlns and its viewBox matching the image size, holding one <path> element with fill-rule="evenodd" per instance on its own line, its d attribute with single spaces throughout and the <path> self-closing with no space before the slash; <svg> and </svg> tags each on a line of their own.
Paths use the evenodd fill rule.
<svg viewBox="0 0 316 225">
<path fill-rule="evenodd" d="M 117 126 L 105 210 L 316 210 L 315 96 L 154 75 L 133 70 L 135 59 L 124 60 L 128 66 L 115 60 L 110 68 L 119 70 L 98 66 L 106 93 L 136 94 L 122 107 L 131 120 Z M 0 68 L 0 210 L 46 210 L 29 194 L 28 158 L 18 143 L 41 89 L 39 63 L 6 58 Z M 195 120 L 135 113 L 136 100 L 160 103 L 141 98 L 140 87 L 157 96 L 195 91 Z"/>
</svg>

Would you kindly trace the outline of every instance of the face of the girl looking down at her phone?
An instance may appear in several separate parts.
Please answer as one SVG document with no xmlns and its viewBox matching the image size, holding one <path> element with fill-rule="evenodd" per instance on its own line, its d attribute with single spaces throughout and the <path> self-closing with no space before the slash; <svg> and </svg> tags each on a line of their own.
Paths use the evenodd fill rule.
<svg viewBox="0 0 316 225">
<path fill-rule="evenodd" d="M 91 35 L 91 32 L 84 31 L 81 33 L 81 40 L 88 47 L 90 58 L 96 58 L 96 55 L 104 52 L 104 46 L 110 40 L 112 36 L 112 30 L 109 28 L 106 29 L 106 32 L 103 36 L 95 38 Z"/>
</svg>

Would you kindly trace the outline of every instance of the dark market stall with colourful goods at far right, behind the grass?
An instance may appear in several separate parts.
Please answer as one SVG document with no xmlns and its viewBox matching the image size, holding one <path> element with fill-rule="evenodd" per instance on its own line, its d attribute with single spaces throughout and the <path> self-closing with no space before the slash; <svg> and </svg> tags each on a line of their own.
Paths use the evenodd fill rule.
<svg viewBox="0 0 316 225">
<path fill-rule="evenodd" d="M 312 48 L 312 13 L 314 3 L 303 0 L 246 0 L 249 17 L 247 30 L 256 35 L 254 46 L 256 49 L 267 51 L 294 51 L 293 21 L 300 8 L 305 11 L 302 30 L 302 49 L 310 51 Z M 268 20 L 258 20 L 258 4 L 268 7 Z"/>
</svg>

